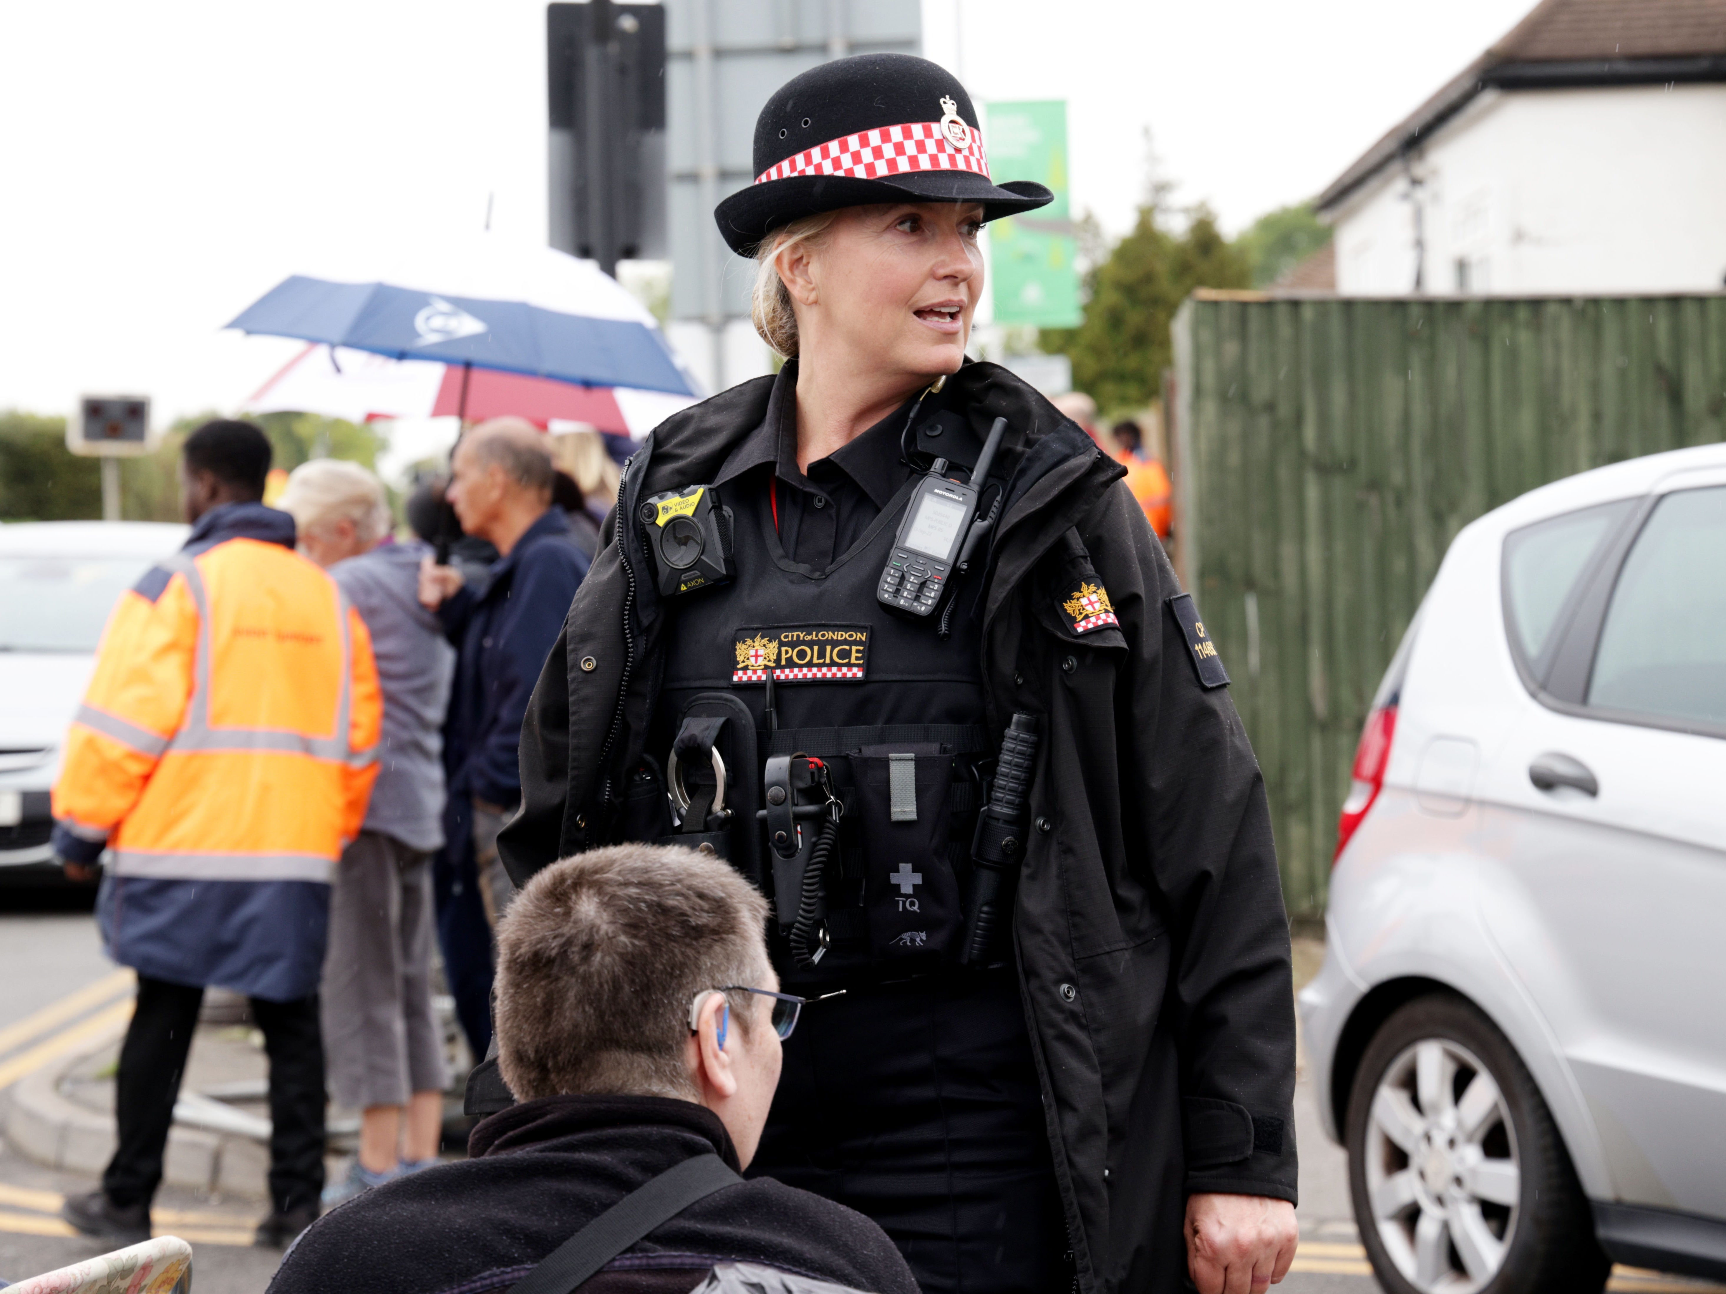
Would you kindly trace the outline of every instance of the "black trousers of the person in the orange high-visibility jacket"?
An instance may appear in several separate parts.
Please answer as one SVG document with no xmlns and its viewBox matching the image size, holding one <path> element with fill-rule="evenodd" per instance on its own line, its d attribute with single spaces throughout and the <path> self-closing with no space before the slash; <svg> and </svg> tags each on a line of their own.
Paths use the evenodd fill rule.
<svg viewBox="0 0 1726 1294">
<path fill-rule="evenodd" d="M 278 1213 L 316 1208 L 324 1182 L 318 994 L 292 1002 L 250 1001 L 269 1056 L 269 1199 Z M 119 1149 L 102 1173 L 102 1189 L 123 1208 L 152 1199 L 162 1184 L 162 1151 L 202 1002 L 202 989 L 138 977 L 114 1097 Z"/>
</svg>

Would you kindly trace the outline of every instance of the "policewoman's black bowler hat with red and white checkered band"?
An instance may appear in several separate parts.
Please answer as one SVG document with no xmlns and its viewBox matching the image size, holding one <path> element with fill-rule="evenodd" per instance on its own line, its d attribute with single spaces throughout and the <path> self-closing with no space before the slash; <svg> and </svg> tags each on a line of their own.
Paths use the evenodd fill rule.
<svg viewBox="0 0 1726 1294">
<path fill-rule="evenodd" d="M 1029 179 L 989 179 L 965 86 L 910 53 L 834 59 L 782 85 L 756 117 L 754 173 L 713 212 L 739 255 L 780 224 L 841 207 L 980 202 L 992 221 L 1055 200 Z"/>
</svg>

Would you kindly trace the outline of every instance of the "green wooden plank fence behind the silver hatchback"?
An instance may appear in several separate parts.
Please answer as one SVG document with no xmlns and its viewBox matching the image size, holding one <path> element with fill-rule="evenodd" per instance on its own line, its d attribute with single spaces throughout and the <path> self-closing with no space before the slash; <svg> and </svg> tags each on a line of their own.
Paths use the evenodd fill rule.
<svg viewBox="0 0 1726 1294">
<path fill-rule="evenodd" d="M 1177 559 L 1312 914 L 1367 706 L 1450 540 L 1536 485 L 1726 438 L 1726 295 L 1200 292 L 1174 343 Z"/>
</svg>

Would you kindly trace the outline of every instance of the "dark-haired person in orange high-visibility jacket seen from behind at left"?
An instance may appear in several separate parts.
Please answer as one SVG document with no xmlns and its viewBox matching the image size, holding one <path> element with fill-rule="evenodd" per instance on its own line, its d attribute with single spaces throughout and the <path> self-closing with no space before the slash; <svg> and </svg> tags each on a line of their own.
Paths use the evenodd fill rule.
<svg viewBox="0 0 1726 1294">
<path fill-rule="evenodd" d="M 383 700 L 371 637 L 293 518 L 264 507 L 269 440 L 193 431 L 180 464 L 192 535 L 123 594 L 54 787 L 54 851 L 95 880 L 109 956 L 138 971 L 119 1054 L 119 1144 L 78 1230 L 150 1237 L 150 1201 L 204 987 L 247 994 L 269 1054 L 271 1213 L 283 1246 L 318 1216 L 324 1071 L 318 977 L 330 880 L 376 778 Z"/>
</svg>

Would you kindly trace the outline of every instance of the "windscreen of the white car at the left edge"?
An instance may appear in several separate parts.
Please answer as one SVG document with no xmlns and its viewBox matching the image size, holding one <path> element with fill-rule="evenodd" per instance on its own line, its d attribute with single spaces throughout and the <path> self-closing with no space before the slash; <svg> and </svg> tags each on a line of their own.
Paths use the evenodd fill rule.
<svg viewBox="0 0 1726 1294">
<path fill-rule="evenodd" d="M 0 652 L 93 652 L 140 557 L 0 556 Z"/>
</svg>

